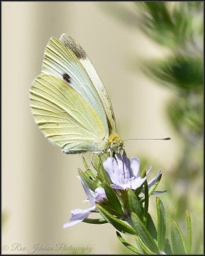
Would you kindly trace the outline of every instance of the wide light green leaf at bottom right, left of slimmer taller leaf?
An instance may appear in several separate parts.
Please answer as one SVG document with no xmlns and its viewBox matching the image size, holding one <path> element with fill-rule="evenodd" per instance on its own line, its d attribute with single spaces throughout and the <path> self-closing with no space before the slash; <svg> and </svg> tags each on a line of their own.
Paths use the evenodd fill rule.
<svg viewBox="0 0 205 256">
<path fill-rule="evenodd" d="M 178 224 L 173 221 L 171 225 L 172 251 L 174 254 L 186 254 L 184 236 Z"/>
</svg>

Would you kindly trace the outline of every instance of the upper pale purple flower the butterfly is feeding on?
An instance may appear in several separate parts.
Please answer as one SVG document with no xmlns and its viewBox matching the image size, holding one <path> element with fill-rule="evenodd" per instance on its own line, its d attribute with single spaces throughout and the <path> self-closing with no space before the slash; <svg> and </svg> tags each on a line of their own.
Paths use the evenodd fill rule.
<svg viewBox="0 0 205 256">
<path fill-rule="evenodd" d="M 115 157 L 108 157 L 103 166 L 111 178 L 111 187 L 116 190 L 136 190 L 146 180 L 146 177 L 140 177 L 137 157 L 130 160 L 126 155 L 115 153 Z"/>
</svg>

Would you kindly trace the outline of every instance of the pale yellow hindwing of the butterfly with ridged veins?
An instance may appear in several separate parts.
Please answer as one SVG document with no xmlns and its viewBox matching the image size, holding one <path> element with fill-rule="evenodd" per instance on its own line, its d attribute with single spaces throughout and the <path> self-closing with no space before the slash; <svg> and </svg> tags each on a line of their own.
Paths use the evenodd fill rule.
<svg viewBox="0 0 205 256">
<path fill-rule="evenodd" d="M 30 90 L 31 110 L 44 136 L 64 153 L 100 152 L 108 133 L 92 105 L 66 81 L 40 75 Z"/>
</svg>

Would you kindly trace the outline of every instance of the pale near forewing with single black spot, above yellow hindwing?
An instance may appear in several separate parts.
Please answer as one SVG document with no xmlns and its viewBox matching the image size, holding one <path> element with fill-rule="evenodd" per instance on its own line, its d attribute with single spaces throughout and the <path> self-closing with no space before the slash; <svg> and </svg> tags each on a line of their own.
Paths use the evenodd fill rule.
<svg viewBox="0 0 205 256">
<path fill-rule="evenodd" d="M 77 55 L 57 38 L 50 38 L 46 45 L 42 74 L 59 77 L 77 90 L 81 94 L 81 97 L 92 105 L 94 111 L 102 121 L 105 132 L 109 133 L 104 106 L 94 84 L 92 84 L 92 80 L 87 75 L 81 62 L 79 62 Z"/>
</svg>

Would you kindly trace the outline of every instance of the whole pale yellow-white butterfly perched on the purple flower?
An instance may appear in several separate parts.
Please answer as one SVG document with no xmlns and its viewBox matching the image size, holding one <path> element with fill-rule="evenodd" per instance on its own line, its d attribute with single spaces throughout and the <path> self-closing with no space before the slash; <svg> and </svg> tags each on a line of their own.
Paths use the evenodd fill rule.
<svg viewBox="0 0 205 256">
<path fill-rule="evenodd" d="M 66 34 L 46 45 L 30 105 L 44 136 L 64 153 L 117 151 L 123 146 L 100 77 L 83 48 Z"/>
</svg>

